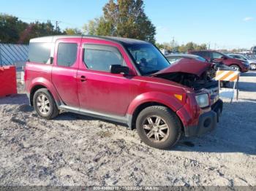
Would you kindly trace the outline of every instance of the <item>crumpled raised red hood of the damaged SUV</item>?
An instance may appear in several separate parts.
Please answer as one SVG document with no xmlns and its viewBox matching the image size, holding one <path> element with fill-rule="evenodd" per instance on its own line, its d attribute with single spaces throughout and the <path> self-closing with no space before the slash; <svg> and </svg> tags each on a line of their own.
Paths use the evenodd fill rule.
<svg viewBox="0 0 256 191">
<path fill-rule="evenodd" d="M 181 58 L 181 60 L 173 63 L 166 69 L 162 69 L 151 76 L 158 76 L 160 74 L 168 74 L 174 72 L 184 72 L 188 74 L 195 74 L 200 77 L 203 72 L 211 68 L 212 63 L 197 61 L 193 58 Z"/>
</svg>

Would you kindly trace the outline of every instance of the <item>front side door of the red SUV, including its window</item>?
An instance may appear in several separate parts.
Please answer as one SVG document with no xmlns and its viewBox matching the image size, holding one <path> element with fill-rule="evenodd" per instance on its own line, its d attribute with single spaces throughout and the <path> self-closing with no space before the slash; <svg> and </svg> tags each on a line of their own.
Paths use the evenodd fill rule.
<svg viewBox="0 0 256 191">
<path fill-rule="evenodd" d="M 110 65 L 127 65 L 120 47 L 83 41 L 78 70 L 80 109 L 124 116 L 129 106 L 130 79 L 124 74 L 110 73 Z"/>
</svg>

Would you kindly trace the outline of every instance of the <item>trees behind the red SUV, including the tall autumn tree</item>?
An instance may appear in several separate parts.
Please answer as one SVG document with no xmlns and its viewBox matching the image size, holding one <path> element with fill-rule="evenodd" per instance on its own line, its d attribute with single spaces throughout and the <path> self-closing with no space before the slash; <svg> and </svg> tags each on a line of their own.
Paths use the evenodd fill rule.
<svg viewBox="0 0 256 191">
<path fill-rule="evenodd" d="M 173 46 L 171 43 L 156 43 L 156 27 L 144 11 L 143 0 L 109 0 L 102 8 L 102 16 L 89 20 L 79 28 L 65 28 L 61 31 L 50 20 L 47 22 L 26 23 L 18 17 L 0 14 L 1 43 L 28 44 L 29 40 L 39 36 L 58 34 L 89 34 L 99 36 L 121 36 L 141 39 L 156 44 L 165 50 L 186 52 L 187 50 L 206 49 L 206 44 L 187 44 Z"/>
</svg>

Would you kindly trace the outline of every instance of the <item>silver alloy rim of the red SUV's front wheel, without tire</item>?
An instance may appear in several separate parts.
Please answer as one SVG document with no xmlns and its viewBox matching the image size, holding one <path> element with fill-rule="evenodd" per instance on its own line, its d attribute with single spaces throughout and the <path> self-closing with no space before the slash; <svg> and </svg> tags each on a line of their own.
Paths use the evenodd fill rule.
<svg viewBox="0 0 256 191">
<path fill-rule="evenodd" d="M 143 129 L 148 139 L 154 142 L 165 141 L 170 133 L 167 122 L 157 115 L 147 117 L 143 122 Z"/>
</svg>

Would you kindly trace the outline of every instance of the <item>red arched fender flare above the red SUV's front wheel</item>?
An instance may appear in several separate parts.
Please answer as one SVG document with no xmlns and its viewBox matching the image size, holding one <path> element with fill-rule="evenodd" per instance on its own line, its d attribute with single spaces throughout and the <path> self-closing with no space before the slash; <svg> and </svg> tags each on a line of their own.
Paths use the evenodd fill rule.
<svg viewBox="0 0 256 191">
<path fill-rule="evenodd" d="M 159 104 L 163 104 L 170 109 L 173 110 L 173 112 L 176 112 L 178 109 L 180 109 L 184 104 L 179 101 L 177 98 L 173 97 L 172 95 L 167 95 L 165 93 L 159 93 L 159 92 L 148 92 L 143 93 L 135 97 L 131 104 L 129 104 L 129 107 L 127 109 L 127 114 L 133 114 L 135 112 L 135 109 L 138 108 L 141 104 L 146 104 L 149 102 L 156 102 Z"/>
</svg>

